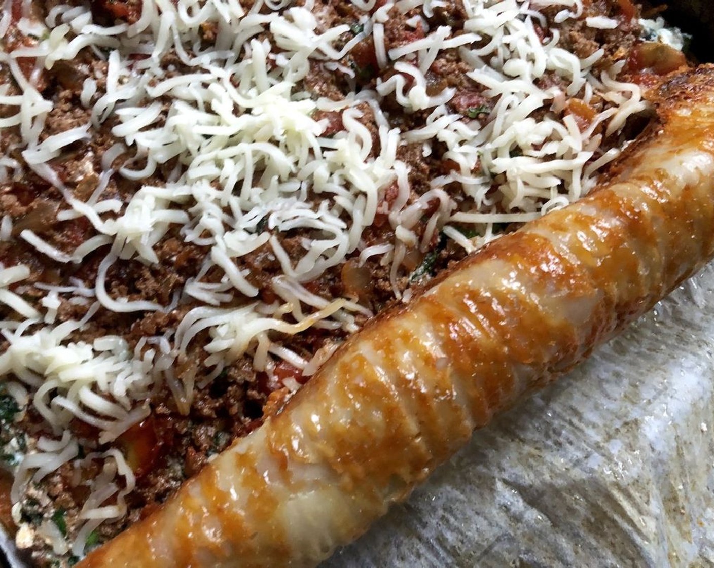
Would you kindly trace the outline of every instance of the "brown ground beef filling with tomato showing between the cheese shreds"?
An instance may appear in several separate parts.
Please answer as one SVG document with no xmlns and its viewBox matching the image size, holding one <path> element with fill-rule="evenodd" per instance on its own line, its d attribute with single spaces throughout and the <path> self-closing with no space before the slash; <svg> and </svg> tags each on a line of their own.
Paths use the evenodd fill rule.
<svg viewBox="0 0 714 568">
<path fill-rule="evenodd" d="M 33 10 L 37 12 L 38 18 L 44 18 L 54 4 L 56 2 L 35 1 Z M 628 21 L 637 21 L 631 19 L 635 12 L 632 14 L 629 12 L 635 10 L 635 6 L 628 0 L 595 0 L 586 4 L 587 16 L 610 18 L 627 16 Z M 141 14 L 141 0 L 92 0 L 91 8 L 96 23 L 103 25 L 110 25 L 114 21 L 131 23 Z M 341 24 L 356 26 L 359 16 L 363 14 L 353 4 L 341 0 L 323 0 L 316 6 L 316 11 L 319 12 L 318 19 L 324 29 Z M 544 42 L 550 38 L 548 29 L 555 25 L 553 18 L 556 12 L 557 10 L 544 12 L 548 20 L 548 26 L 540 28 Z M 413 29 L 406 24 L 414 14 L 416 11 L 406 14 L 395 13 L 386 22 L 387 49 L 424 36 L 420 27 Z M 439 25 L 452 26 L 456 35 L 460 33 L 459 30 L 465 19 L 466 14 L 461 4 L 450 2 L 448 6 L 436 8 L 428 23 L 431 29 L 436 29 Z M 590 56 L 601 47 L 604 48 L 605 58 L 599 64 L 603 69 L 616 60 L 627 59 L 633 46 L 639 43 L 637 39 L 639 30 L 634 23 L 619 26 L 617 29 L 595 30 L 582 24 L 582 20 L 568 21 L 560 26 L 560 31 L 560 46 L 573 51 L 581 58 Z M 358 30 L 353 29 L 343 34 L 342 43 L 349 41 L 356 33 Z M 206 26 L 203 30 L 203 37 L 208 44 L 214 34 L 215 30 L 211 29 L 211 26 Z M 11 42 L 19 39 L 16 39 L 11 28 L 3 41 L 5 49 L 8 50 L 11 49 Z M 336 47 L 340 49 L 339 42 Z M 305 79 L 303 89 L 316 98 L 323 96 L 340 100 L 349 92 L 373 89 L 378 76 L 388 79 L 396 72 L 387 66 L 381 71 L 381 75 L 378 75 L 376 54 L 369 39 L 358 44 L 341 63 L 355 71 L 354 84 L 349 84 L 343 74 L 328 71 L 321 64 L 313 61 L 311 73 Z M 180 61 L 166 61 L 166 64 L 174 65 L 176 73 L 181 73 Z M 482 86 L 466 76 L 468 70 L 468 66 L 459 58 L 458 50 L 448 49 L 441 52 L 427 74 L 430 91 L 438 93 L 446 87 L 455 87 L 456 95 L 448 103 L 451 111 L 463 114 L 468 120 L 484 122 L 488 119 L 493 101 L 483 93 Z M 42 71 L 43 94 L 54 101 L 54 110 L 46 121 L 46 136 L 81 126 L 89 121 L 89 111 L 80 104 L 80 94 L 83 81 L 90 73 L 100 78 L 106 76 L 106 61 L 99 59 L 89 49 L 79 52 L 76 65 L 60 62 L 51 71 Z M 99 81 L 101 83 L 101 79 Z M 546 76 L 543 81 L 555 85 L 560 84 L 561 79 L 553 74 Z M 13 91 L 19 92 L 1 64 L 0 82 L 9 85 L 8 94 L 12 94 Z M 589 124 L 588 116 L 592 116 L 595 109 L 591 108 L 592 102 L 590 105 L 585 105 L 579 101 L 578 96 L 573 97 L 563 112 L 574 114 L 579 124 L 584 127 Z M 594 104 L 602 103 L 595 101 Z M 425 124 L 428 116 L 426 111 L 404 114 L 402 107 L 393 96 L 386 97 L 383 108 L 386 109 L 392 126 L 400 126 L 402 129 L 419 128 Z M 376 154 L 379 151 L 378 127 L 367 105 L 363 105 L 361 111 L 363 111 L 361 121 L 373 136 L 373 154 Z M 0 116 L 3 116 L 4 112 L 0 107 Z M 316 118 L 328 120 L 325 136 L 336 134 L 343 129 L 339 113 L 323 112 Z M 111 121 L 102 125 L 91 140 L 77 142 L 51 164 L 59 179 L 80 199 L 91 194 L 98 183 L 98 172 L 102 170 L 102 157 L 116 141 L 110 133 L 112 126 L 114 124 L 111 124 Z M 19 134 L 12 129 L 2 131 L 0 152 L 22 161 L 19 151 L 11 149 L 18 136 Z M 614 137 L 605 139 L 603 150 L 606 151 L 608 147 L 619 143 L 619 139 Z M 456 169 L 456 164 L 442 159 L 444 151 L 446 148 L 439 144 L 434 144 L 431 155 L 426 157 L 423 156 L 421 144 L 403 146 L 398 150 L 398 158 L 405 161 L 410 168 L 411 201 L 416 201 L 419 196 L 428 191 L 431 179 Z M 117 160 L 125 161 L 127 157 L 129 156 L 122 155 Z M 141 168 L 141 164 L 137 164 L 136 167 Z M 165 185 L 175 167 L 176 163 L 164 164 L 156 171 L 153 178 L 142 180 L 141 185 Z M 494 183 L 497 182 L 498 180 L 494 180 Z M 114 175 L 102 196 L 104 199 L 109 197 L 127 199 L 139 189 L 139 186 L 140 184 Z M 447 187 L 446 190 L 448 189 Z M 457 194 L 456 191 L 453 193 Z M 396 189 L 386 191 L 385 201 L 389 202 L 395 197 Z M 473 203 L 466 196 L 459 199 L 460 209 L 468 211 L 472 208 Z M 438 201 L 434 203 L 434 207 L 437 206 Z M 106 256 L 106 247 L 103 247 L 90 254 L 80 265 L 62 264 L 41 256 L 36 249 L 17 238 L 24 229 L 31 229 L 56 249 L 68 252 L 74 250 L 78 244 L 94 234 L 94 229 L 84 218 L 58 221 L 56 215 L 63 209 L 66 209 L 66 204 L 59 191 L 31 172 L 22 181 L 0 184 L 0 212 L 10 216 L 14 226 L 14 239 L 0 242 L 0 263 L 4 266 L 25 264 L 31 267 L 31 276 L 23 282 L 22 287 L 24 299 L 31 303 L 39 302 L 39 299 L 44 296 L 44 291 L 37 288 L 35 284 L 58 284 L 76 279 L 91 287 L 96 279 L 99 263 Z M 424 211 L 421 224 L 416 226 L 415 232 L 420 239 L 426 230 L 426 221 L 430 214 L 431 211 Z M 471 229 L 468 226 L 463 226 L 461 229 L 464 234 L 471 236 L 469 234 Z M 509 229 L 503 226 L 501 229 L 510 230 L 513 227 Z M 292 231 L 275 234 L 275 236 L 280 239 L 283 248 L 289 254 L 292 250 L 300 249 L 301 238 L 304 235 L 300 231 Z M 373 225 L 363 234 L 363 239 L 367 246 L 394 240 L 386 214 L 378 213 Z M 461 246 L 438 234 L 429 244 L 426 252 L 414 250 L 408 253 L 398 274 L 399 292 L 404 292 L 411 286 L 426 284 L 433 274 L 447 269 L 466 254 Z M 159 263 L 151 266 L 141 264 L 139 261 L 118 261 L 114 264 L 107 278 L 107 289 L 112 297 L 126 297 L 131 301 L 149 300 L 164 306 L 169 305 L 174 294 L 181 290 L 183 284 L 196 276 L 201 266 L 201 259 L 206 256 L 208 249 L 185 244 L 178 234 L 169 231 L 164 240 L 155 247 L 155 251 L 159 256 Z M 275 293 L 271 281 L 281 274 L 281 267 L 271 249 L 268 246 L 261 246 L 251 254 L 241 257 L 238 262 L 239 269 L 250 271 L 248 280 L 259 289 L 259 297 L 264 302 L 272 302 Z M 366 264 L 359 265 L 356 256 L 353 256 L 344 264 L 328 269 L 318 279 L 305 286 L 313 294 L 325 298 L 354 297 L 363 306 L 378 313 L 396 302 L 395 290 L 390 281 L 390 269 L 391 266 L 380 264 L 376 257 L 368 259 Z M 216 271 L 215 274 L 209 273 L 206 279 L 220 281 L 222 276 L 222 272 Z M 91 342 L 94 338 L 106 334 L 121 334 L 131 347 L 135 347 L 142 337 L 161 335 L 167 329 L 175 329 L 183 315 L 196 305 L 181 304 L 168 313 L 116 314 L 100 309 L 86 328 L 77 332 L 73 339 Z M 62 322 L 81 319 L 84 313 L 86 313 L 86 305 L 72 304 L 63 300 L 58 311 L 58 320 Z M 13 317 L 11 310 L 0 304 L 0 319 Z M 361 317 L 357 323 L 361 325 L 364 321 L 365 319 Z M 201 346 L 205 343 L 202 339 L 206 339 L 206 332 L 203 333 L 204 337 L 198 337 L 193 345 Z M 279 334 L 276 335 L 279 337 Z M 326 332 L 323 329 L 310 328 L 302 334 L 286 335 L 282 339 L 286 347 L 309 358 L 319 349 L 341 342 L 345 338 L 345 332 Z M 7 343 L 0 341 L 0 352 L 5 349 Z M 179 362 L 179 367 L 182 365 L 201 367 L 201 361 L 206 354 L 200 347 L 192 349 L 185 360 Z M 181 368 L 177 369 L 177 374 L 180 373 Z M 121 448 L 136 475 L 136 489 L 126 496 L 129 514 L 117 522 L 101 524 L 99 529 L 91 534 L 88 544 L 92 546 L 104 542 L 129 524 L 150 514 L 170 497 L 185 479 L 196 474 L 213 454 L 221 452 L 236 437 L 245 436 L 258 427 L 266 414 L 278 412 L 289 398 L 290 391 L 286 387 L 286 381 L 301 384 L 306 380 L 307 377 L 303 377 L 299 369 L 283 360 L 276 360 L 275 372 L 268 377 L 264 372 L 256 372 L 248 358 L 239 359 L 212 382 L 200 384 L 199 381 L 188 412 L 178 407 L 169 387 L 161 385 L 151 396 L 151 416 L 129 429 L 116 444 Z M 51 432 L 46 430 L 41 417 L 33 409 L 29 409 L 19 417 L 18 409 L 13 407 L 13 399 L 1 388 L 0 422 L 2 425 L 0 444 L 5 448 L 14 444 L 18 453 L 24 451 L 30 439 L 36 439 L 43 434 L 51 435 Z M 101 452 L 105 448 L 100 444 L 98 432 L 93 427 L 75 420 L 71 423 L 71 429 L 79 439 L 85 454 Z M 5 452 L 0 458 L 8 466 L 16 463 L 16 454 L 10 452 Z M 92 472 L 91 467 L 87 469 L 86 475 L 92 473 L 99 474 L 99 472 Z M 73 469 L 69 464 L 65 464 L 54 474 L 36 484 L 36 487 L 31 489 L 29 498 L 21 503 L 21 518 L 25 522 L 39 522 L 41 519 L 49 518 L 64 534 L 74 534 L 81 524 L 77 514 L 86 499 L 86 492 L 78 489 L 81 485 L 76 483 L 73 476 Z M 0 477 L 0 519 L 9 530 L 14 530 L 14 524 L 9 519 L 10 505 L 6 497 L 8 491 L 6 476 Z M 29 547 L 29 553 L 33 562 L 41 567 L 66 566 L 76 561 L 69 552 L 59 556 L 54 554 L 39 537 Z"/>
</svg>

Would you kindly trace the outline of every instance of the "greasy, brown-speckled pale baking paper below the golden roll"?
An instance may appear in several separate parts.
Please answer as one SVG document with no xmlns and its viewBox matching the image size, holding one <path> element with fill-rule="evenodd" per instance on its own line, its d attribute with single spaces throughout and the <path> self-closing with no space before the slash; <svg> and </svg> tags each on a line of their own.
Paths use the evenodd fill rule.
<svg viewBox="0 0 714 568">
<path fill-rule="evenodd" d="M 322 568 L 714 565 L 714 264 Z"/>
</svg>

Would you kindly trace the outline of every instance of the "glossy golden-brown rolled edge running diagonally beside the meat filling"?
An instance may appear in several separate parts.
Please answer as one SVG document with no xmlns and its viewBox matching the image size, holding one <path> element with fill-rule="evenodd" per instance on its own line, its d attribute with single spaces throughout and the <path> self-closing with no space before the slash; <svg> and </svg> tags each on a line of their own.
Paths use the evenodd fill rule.
<svg viewBox="0 0 714 568">
<path fill-rule="evenodd" d="M 473 429 L 582 361 L 714 256 L 714 66 L 590 196 L 503 236 L 341 347 L 89 567 L 308 567 L 406 498 Z"/>
</svg>

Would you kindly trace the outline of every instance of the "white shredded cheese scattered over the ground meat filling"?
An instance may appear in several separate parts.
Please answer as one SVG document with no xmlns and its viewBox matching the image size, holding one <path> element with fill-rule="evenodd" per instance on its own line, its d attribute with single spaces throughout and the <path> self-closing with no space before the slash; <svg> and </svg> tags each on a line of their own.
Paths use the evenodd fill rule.
<svg viewBox="0 0 714 568">
<path fill-rule="evenodd" d="M 10 96 L 0 86 L 0 104 L 12 109 L 0 119 L 0 129 L 19 129 L 21 141 L 14 149 L 21 150 L 26 166 L 0 156 L 0 181 L 21 179 L 24 167 L 31 169 L 64 196 L 66 206 L 58 219 L 86 218 L 95 234 L 74 251 L 56 249 L 30 230 L 21 231 L 19 238 L 60 263 L 81 263 L 102 247 L 106 256 L 94 282 L 45 285 L 44 312 L 26 302 L 16 287 L 29 276 L 29 267 L 0 266 L 0 302 L 16 312 L 16 318 L 0 322 L 9 342 L 0 354 L 0 377 L 19 403 L 34 405 L 59 439 L 45 440 L 25 457 L 14 499 L 29 479 L 38 482 L 64 462 L 76 460 L 81 467 L 76 441 L 66 430 L 72 419 L 93 425 L 101 442 L 111 442 L 146 417 L 146 400 L 157 382 L 169 384 L 179 407 L 188 409 L 196 380 L 210 381 L 246 354 L 259 370 L 271 372 L 276 357 L 305 374 L 314 372 L 315 361 L 271 341 L 271 332 L 296 334 L 311 326 L 353 332 L 355 315 L 371 312 L 354 298 L 321 298 L 303 284 L 358 254 L 362 263 L 378 256 L 391 266 L 398 293 L 396 279 L 406 253 L 417 247 L 426 251 L 438 232 L 472 251 L 493 238 L 494 223 L 535 219 L 586 194 L 598 169 L 617 154 L 598 152 L 603 138 L 598 126 L 605 125 L 605 134 L 615 133 L 628 116 L 645 109 L 638 86 L 615 79 L 623 63 L 595 74 L 593 65 L 602 50 L 583 60 L 559 47 L 557 31 L 540 41 L 535 26 L 545 26 L 545 19 L 537 10 L 560 6 L 556 21 L 578 19 L 581 0 L 465 0 L 468 19 L 458 35 L 450 26 L 429 28 L 425 16 L 443 6 L 443 0 L 388 1 L 373 14 L 375 0 L 352 1 L 364 10 L 361 31 L 353 36 L 347 34 L 349 26 L 324 26 L 314 0 L 301 6 L 256 0 L 249 8 L 238 0 L 144 0 L 136 23 L 109 27 L 94 23 L 86 5 L 59 4 L 42 22 L 24 14 L 18 28 L 37 40 L 9 53 L 0 51 L 1 64 L 9 67 L 22 91 Z M 0 16 L 0 34 L 9 29 L 10 4 L 5 3 Z M 267 14 L 261 13 L 263 4 L 271 9 Z M 421 11 L 409 25 L 421 26 L 426 36 L 386 49 L 384 29 L 391 14 L 413 9 Z M 209 49 L 201 47 L 206 24 L 216 26 Z M 611 29 L 617 21 L 591 18 L 587 25 Z M 340 101 L 314 98 L 305 90 L 311 64 L 353 81 L 353 69 L 341 61 L 363 39 L 373 41 L 378 66 L 397 71 L 391 78 L 379 79 L 375 91 L 353 92 Z M 81 104 L 91 109 L 91 119 L 43 136 L 53 102 L 36 88 L 39 71 L 73 61 L 83 49 L 107 64 L 104 76 L 91 75 L 83 84 Z M 455 89 L 429 94 L 426 73 L 446 49 L 457 49 L 470 66 L 468 76 L 494 97 L 485 126 L 450 110 Z M 177 73 L 164 63 L 169 56 L 189 71 Z M 36 72 L 29 78 L 21 70 L 21 58 L 36 59 Z M 563 79 L 564 88 L 540 88 L 538 79 L 547 72 Z M 568 98 L 580 91 L 585 103 L 595 96 L 607 102 L 585 131 L 573 116 L 557 118 Z M 393 126 L 381 104 L 387 96 L 394 96 L 405 113 L 428 113 L 426 125 L 411 131 Z M 360 122 L 358 107 L 364 104 L 378 125 L 378 153 Z M 551 112 L 535 119 L 539 109 Z M 322 136 L 328 125 L 315 119 L 316 111 L 340 112 L 343 131 Z M 50 162 L 108 121 L 116 121 L 111 129 L 116 141 L 102 159 L 103 171 L 96 172 L 99 184 L 93 194 L 79 199 Z M 434 141 L 446 145 L 443 159 L 457 166 L 410 201 L 408 164 L 397 159 L 398 147 L 421 144 L 428 156 Z M 122 155 L 134 157 L 117 166 Z M 171 160 L 177 165 L 169 183 L 144 184 Z M 104 199 L 111 176 L 133 180 L 139 189 L 126 202 Z M 473 211 L 456 209 L 453 195 L 444 189 L 455 182 L 473 199 Z M 384 194 L 391 184 L 398 194 L 386 204 Z M 435 200 L 439 205 L 420 239 L 414 228 Z M 505 212 L 496 210 L 497 202 L 505 204 Z M 366 246 L 363 231 L 378 212 L 388 214 L 396 239 Z M 452 225 L 456 222 L 473 224 L 478 236 L 467 238 Z M 156 244 L 172 228 L 179 229 L 184 242 L 206 250 L 196 278 L 169 305 L 112 297 L 106 287 L 111 266 L 126 259 L 157 262 Z M 291 229 L 310 235 L 298 255 L 288 254 L 276 237 Z M 0 240 L 9 241 L 11 231 L 11 219 L 2 216 Z M 278 297 L 273 304 L 258 299 L 258 289 L 238 262 L 266 244 L 282 269 L 273 282 Z M 216 267 L 223 278 L 207 281 L 206 274 Z M 56 322 L 60 298 L 86 306 L 86 317 Z M 234 307 L 236 301 L 240 307 Z M 171 312 L 187 302 L 199 305 L 176 329 L 145 337 L 136 349 L 129 349 L 120 336 L 91 344 L 72 339 L 99 306 L 111 312 Z M 176 362 L 203 330 L 211 338 L 201 346 L 208 353 L 206 368 L 191 367 L 176 376 Z M 101 458 L 114 464 L 105 466 L 106 479 L 123 475 L 121 492 L 131 490 L 134 478 L 120 452 L 109 450 Z M 72 548 L 76 555 L 99 522 L 126 513 L 123 498 L 114 497 L 114 507 L 101 507 L 116 494 L 126 494 L 116 481 L 107 491 L 106 479 L 92 485 L 82 512 L 86 526 Z"/>
</svg>

